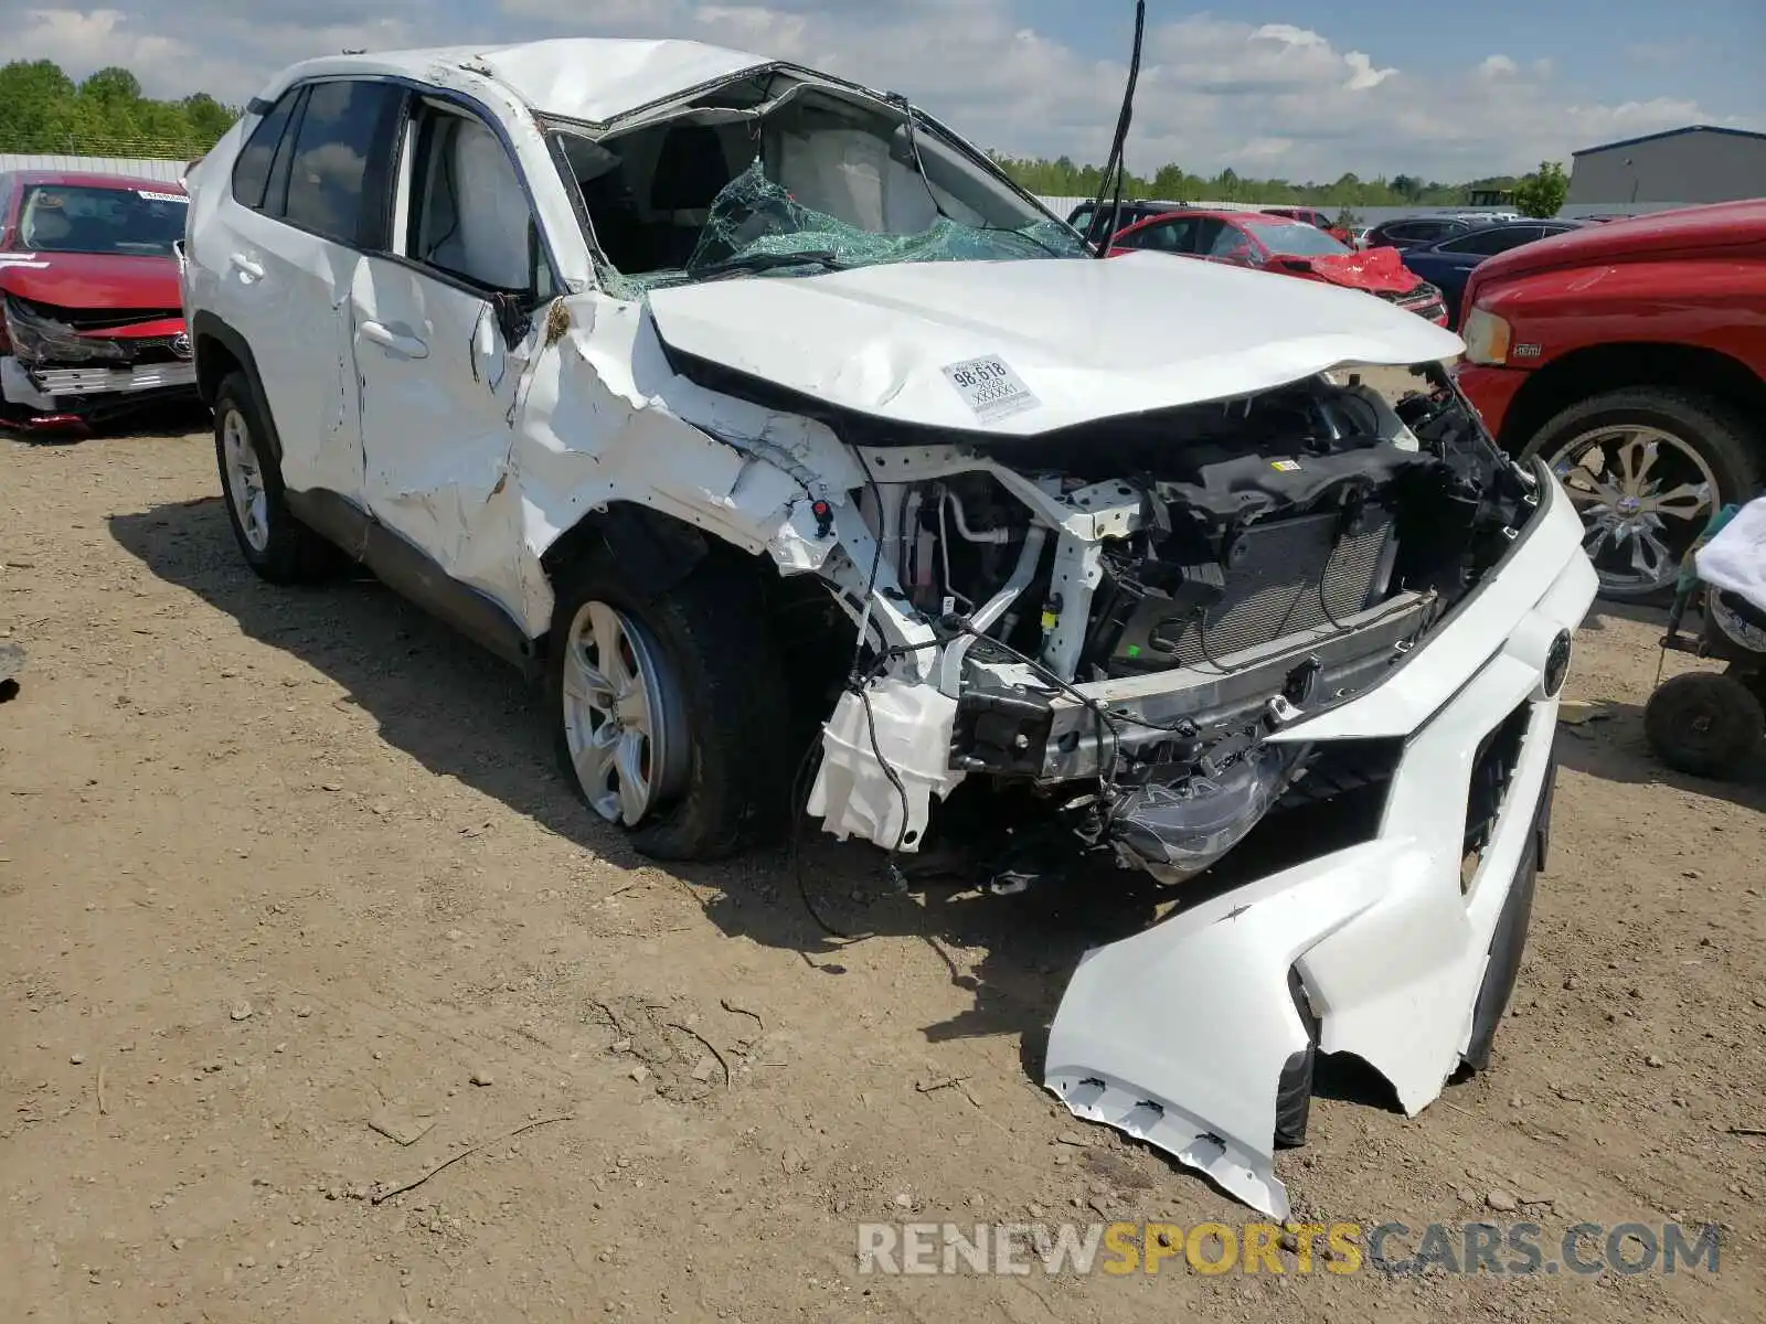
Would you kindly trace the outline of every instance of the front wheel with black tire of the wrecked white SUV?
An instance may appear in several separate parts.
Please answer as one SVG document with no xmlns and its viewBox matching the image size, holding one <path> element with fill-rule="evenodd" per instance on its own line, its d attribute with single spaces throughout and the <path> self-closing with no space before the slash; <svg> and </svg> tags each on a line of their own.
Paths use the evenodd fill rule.
<svg viewBox="0 0 1766 1324">
<path fill-rule="evenodd" d="M 782 835 L 789 697 L 756 575 L 713 553 L 645 598 L 597 549 L 553 588 L 547 696 L 583 801 L 653 860 Z"/>
</svg>

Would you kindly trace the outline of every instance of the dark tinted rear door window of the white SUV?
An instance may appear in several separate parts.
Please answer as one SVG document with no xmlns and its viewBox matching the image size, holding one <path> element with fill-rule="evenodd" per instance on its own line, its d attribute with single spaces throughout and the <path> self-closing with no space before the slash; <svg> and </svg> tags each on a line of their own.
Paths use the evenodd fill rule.
<svg viewBox="0 0 1766 1324">
<path fill-rule="evenodd" d="M 295 132 L 283 215 L 339 244 L 376 247 L 385 169 L 403 92 L 390 83 L 318 83 Z"/>
</svg>

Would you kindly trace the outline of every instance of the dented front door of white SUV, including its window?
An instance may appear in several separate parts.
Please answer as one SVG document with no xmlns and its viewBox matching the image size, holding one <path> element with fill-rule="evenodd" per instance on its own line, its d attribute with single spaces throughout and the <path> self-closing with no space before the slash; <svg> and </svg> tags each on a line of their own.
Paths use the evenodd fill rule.
<svg viewBox="0 0 1766 1324">
<path fill-rule="evenodd" d="M 364 258 L 351 291 L 367 507 L 514 613 L 521 323 L 549 268 L 521 175 L 477 115 L 420 101 L 397 178 L 392 251 Z"/>
</svg>

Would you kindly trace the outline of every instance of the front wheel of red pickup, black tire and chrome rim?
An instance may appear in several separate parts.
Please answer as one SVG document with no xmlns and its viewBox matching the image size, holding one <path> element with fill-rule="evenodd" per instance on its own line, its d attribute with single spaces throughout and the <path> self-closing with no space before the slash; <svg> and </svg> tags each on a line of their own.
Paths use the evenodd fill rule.
<svg viewBox="0 0 1766 1324">
<path fill-rule="evenodd" d="M 1754 494 L 1761 440 L 1722 401 L 1628 387 L 1558 413 L 1522 450 L 1533 455 L 1582 515 L 1602 597 L 1665 602 L 1711 515 Z"/>
</svg>

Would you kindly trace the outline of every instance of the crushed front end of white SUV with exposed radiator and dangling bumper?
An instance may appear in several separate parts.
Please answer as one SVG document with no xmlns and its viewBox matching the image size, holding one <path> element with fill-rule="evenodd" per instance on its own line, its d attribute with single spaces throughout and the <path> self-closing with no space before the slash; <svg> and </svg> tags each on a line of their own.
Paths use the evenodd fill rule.
<svg viewBox="0 0 1766 1324">
<path fill-rule="evenodd" d="M 1323 374 L 998 445 L 860 441 L 849 560 L 823 568 L 869 644 L 809 810 L 998 891 L 1088 854 L 1174 884 L 1083 960 L 1045 1084 L 1270 1215 L 1317 1054 L 1408 1110 L 1483 1064 L 1595 593 L 1551 475 L 1413 371 L 1395 406 Z M 1277 863 L 1222 872 L 1259 826 Z"/>
</svg>

